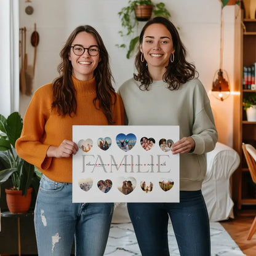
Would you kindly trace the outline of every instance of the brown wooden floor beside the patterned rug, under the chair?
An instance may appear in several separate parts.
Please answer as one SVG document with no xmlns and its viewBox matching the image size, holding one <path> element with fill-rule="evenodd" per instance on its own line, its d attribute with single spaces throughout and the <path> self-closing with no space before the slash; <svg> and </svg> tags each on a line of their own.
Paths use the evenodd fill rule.
<svg viewBox="0 0 256 256">
<path fill-rule="evenodd" d="M 231 238 L 238 244 L 240 249 L 247 256 L 256 255 L 256 233 L 252 239 L 248 241 L 247 235 L 250 225 L 254 221 L 255 216 L 236 216 L 234 219 L 220 222 L 226 231 L 230 234 Z"/>
</svg>

